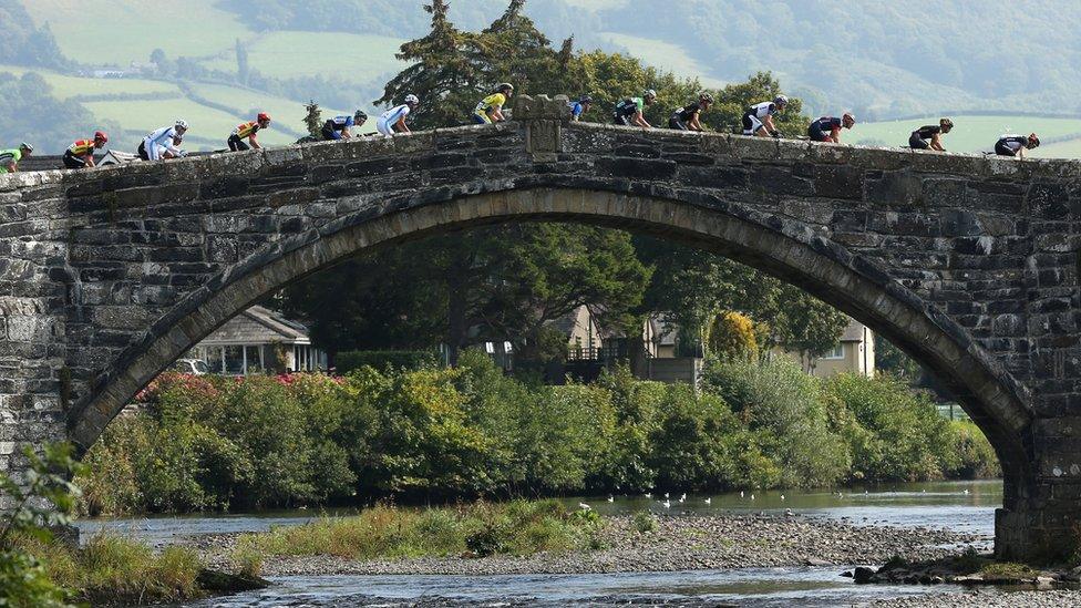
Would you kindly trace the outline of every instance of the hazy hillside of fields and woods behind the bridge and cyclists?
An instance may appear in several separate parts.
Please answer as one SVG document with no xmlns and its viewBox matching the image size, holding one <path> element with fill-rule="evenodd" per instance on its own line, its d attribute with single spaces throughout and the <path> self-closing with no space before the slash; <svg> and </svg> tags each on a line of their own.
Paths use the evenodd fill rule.
<svg viewBox="0 0 1081 608">
<path fill-rule="evenodd" d="M 89 112 L 76 121 L 87 123 L 81 128 L 120 125 L 131 138 L 183 115 L 194 126 L 191 143 L 207 148 L 220 146 L 223 132 L 259 107 L 280 116 L 267 142 L 285 143 L 302 131 L 301 105 L 309 99 L 375 110 L 371 100 L 402 69 L 398 48 L 426 31 L 425 2 L 0 0 L 0 31 L 33 50 L 0 43 L 7 63 L 0 72 L 40 73 L 51 95 Z M 459 27 L 478 30 L 505 6 L 459 0 L 451 16 Z M 710 86 L 772 70 L 809 114 L 854 110 L 863 124 L 850 141 L 893 144 L 907 126 L 889 118 L 947 112 L 996 111 L 1000 117 L 975 121 L 964 135 L 959 130 L 951 137 L 956 150 L 987 146 L 1006 128 L 1034 130 L 1046 140 L 1081 134 L 1064 118 L 1012 117 L 1044 107 L 1081 116 L 1072 94 L 1081 84 L 1081 39 L 1071 27 L 1081 21 L 1081 4 L 989 0 L 976 10 L 965 0 L 912 0 L 902 10 L 851 0 L 844 13 L 828 0 L 784 0 L 768 10 L 749 0 L 687 0 L 679 11 L 630 7 L 628 0 L 528 0 L 526 12 L 554 40 L 575 35 L 579 49 L 626 51 Z M 930 19 L 947 23 L 948 37 L 926 35 L 936 29 L 927 25 Z M 1039 37 L 1028 35 L 1037 30 Z M 101 42 L 86 44 L 87 31 Z M 1017 42 L 990 44 L 988 31 Z M 145 66 L 152 55 L 158 72 L 90 78 L 103 69 L 132 72 L 133 62 Z M 14 137 L 42 138 L 0 126 L 0 138 Z M 55 152 L 60 143 L 43 145 Z M 1056 143 L 1040 152 L 1072 155 L 1079 147 Z"/>
</svg>

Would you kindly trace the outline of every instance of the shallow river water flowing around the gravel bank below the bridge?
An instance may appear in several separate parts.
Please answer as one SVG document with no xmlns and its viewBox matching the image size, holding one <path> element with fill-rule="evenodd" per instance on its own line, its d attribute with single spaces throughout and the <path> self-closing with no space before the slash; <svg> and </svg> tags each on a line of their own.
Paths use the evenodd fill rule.
<svg viewBox="0 0 1081 608">
<path fill-rule="evenodd" d="M 995 508 L 1002 504 L 998 481 L 944 482 L 853 487 L 838 491 L 738 492 L 689 495 L 565 498 L 586 503 L 601 514 L 794 513 L 843 519 L 855 525 L 949 528 L 977 534 L 990 547 Z M 710 498 L 710 503 L 706 503 Z M 348 514 L 348 511 L 337 512 Z M 198 515 L 135 519 L 84 519 L 83 536 L 106 529 L 131 534 L 161 546 L 178 537 L 230 532 L 260 532 L 299 525 L 321 513 L 295 511 L 258 515 Z M 692 573 L 517 576 L 326 576 L 275 577 L 260 591 L 192 604 L 199 607 L 357 606 L 455 604 L 568 606 L 608 604 L 723 605 L 748 607 L 854 606 L 882 598 L 959 591 L 950 586 L 857 586 L 838 574 L 842 567 L 749 568 Z M 998 592 L 998 591 L 988 591 Z"/>
</svg>

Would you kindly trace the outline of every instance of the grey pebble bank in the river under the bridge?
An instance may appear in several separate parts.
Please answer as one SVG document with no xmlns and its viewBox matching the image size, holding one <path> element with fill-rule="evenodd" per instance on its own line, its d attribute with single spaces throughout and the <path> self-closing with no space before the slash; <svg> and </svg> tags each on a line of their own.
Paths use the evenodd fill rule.
<svg viewBox="0 0 1081 608">
<path fill-rule="evenodd" d="M 228 566 L 237 535 L 191 542 L 212 565 Z M 660 517 L 639 532 L 630 517 L 609 517 L 591 550 L 529 556 L 425 557 L 351 560 L 334 556 L 274 556 L 265 576 L 507 575 L 678 571 L 775 566 L 882 564 L 893 556 L 929 560 L 981 543 L 972 535 L 925 528 L 855 526 L 801 516 Z"/>
</svg>

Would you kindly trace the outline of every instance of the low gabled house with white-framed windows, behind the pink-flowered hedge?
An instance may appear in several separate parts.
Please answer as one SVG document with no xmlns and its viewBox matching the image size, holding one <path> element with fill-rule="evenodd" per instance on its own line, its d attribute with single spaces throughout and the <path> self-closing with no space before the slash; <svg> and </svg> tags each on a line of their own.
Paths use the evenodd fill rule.
<svg viewBox="0 0 1081 608">
<path fill-rule="evenodd" d="M 183 359 L 202 360 L 210 373 L 227 375 L 327 369 L 327 354 L 311 346 L 308 328 L 261 306 L 229 319 Z"/>
</svg>

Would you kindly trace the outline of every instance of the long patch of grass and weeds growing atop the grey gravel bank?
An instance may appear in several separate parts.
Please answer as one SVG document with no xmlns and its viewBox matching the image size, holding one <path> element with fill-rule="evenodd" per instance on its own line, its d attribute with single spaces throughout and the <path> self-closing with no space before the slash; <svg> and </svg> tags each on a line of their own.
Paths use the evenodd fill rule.
<svg viewBox="0 0 1081 608">
<path fill-rule="evenodd" d="M 333 555 L 351 559 L 531 555 L 595 545 L 603 523 L 557 501 L 475 503 L 454 508 L 377 506 L 240 538 L 238 555 Z M 249 558 L 250 559 L 250 558 Z"/>
</svg>

